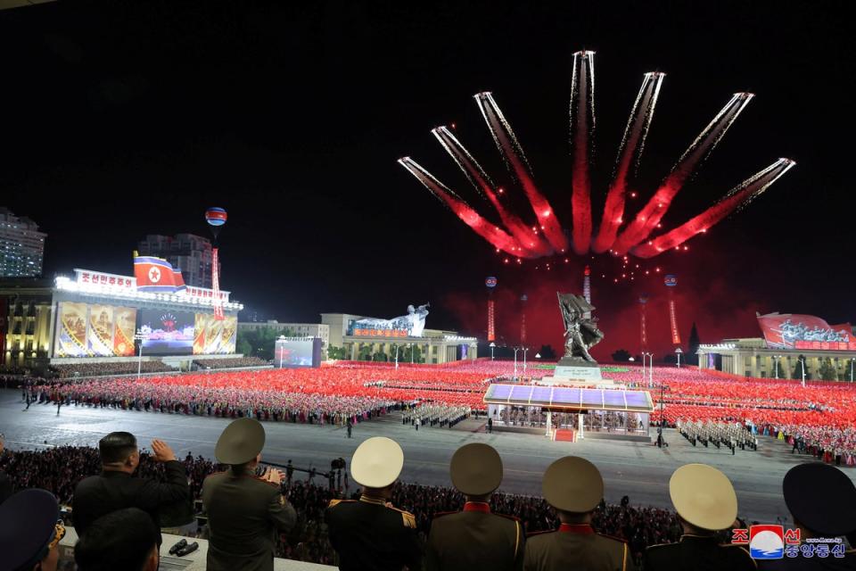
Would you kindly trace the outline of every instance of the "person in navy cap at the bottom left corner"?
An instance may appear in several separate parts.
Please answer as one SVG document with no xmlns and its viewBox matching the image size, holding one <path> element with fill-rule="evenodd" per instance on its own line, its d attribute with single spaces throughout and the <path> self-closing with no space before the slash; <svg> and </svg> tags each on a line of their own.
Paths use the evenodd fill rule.
<svg viewBox="0 0 856 571">
<path fill-rule="evenodd" d="M 56 571 L 63 535 L 51 492 L 31 488 L 12 495 L 0 506 L 0 569 Z"/>
</svg>

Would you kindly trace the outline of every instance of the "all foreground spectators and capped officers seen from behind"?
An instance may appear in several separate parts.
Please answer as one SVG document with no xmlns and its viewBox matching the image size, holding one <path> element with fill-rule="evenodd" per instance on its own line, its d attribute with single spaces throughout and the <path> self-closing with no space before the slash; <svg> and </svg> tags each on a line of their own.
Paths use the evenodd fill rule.
<svg viewBox="0 0 856 571">
<path fill-rule="evenodd" d="M 399 444 L 372 437 L 350 460 L 360 489 L 349 494 L 348 484 L 342 488 L 333 477 L 334 470 L 344 468 L 342 459 L 331 463 L 329 485 L 317 485 L 312 473 L 306 481 L 292 478 L 291 462 L 287 476 L 262 470 L 264 442 L 263 425 L 251 418 L 226 426 L 216 461 L 191 453 L 180 460 L 159 440 L 152 441 L 151 452 L 140 451 L 134 434 L 126 432 L 105 435 L 98 449 L 10 452 L 0 441 L 0 475 L 8 475 L 19 491 L 0 497 L 0 521 L 15 522 L 4 527 L 11 534 L 10 541 L 4 540 L 4 561 L 11 569 L 54 571 L 58 557 L 53 550 L 64 525 L 75 525 L 80 571 L 154 571 L 163 542 L 160 530 L 174 532 L 171 526 L 189 522 L 185 530 L 191 542 L 178 542 L 170 553 L 186 555 L 198 544 L 193 537 L 205 538 L 211 571 L 272 569 L 275 556 L 342 569 L 383 562 L 378 568 L 426 571 L 452 564 L 509 571 L 659 571 L 702 568 L 697 567 L 702 563 L 737 571 L 757 567 L 739 541 L 737 532 L 748 530 L 738 517 L 733 485 L 704 464 L 674 470 L 669 483 L 674 509 L 657 509 L 631 506 L 627 496 L 620 504 L 606 504 L 597 467 L 573 456 L 547 468 L 543 497 L 498 492 L 502 460 L 485 443 L 467 443 L 455 451 L 449 466 L 452 487 L 402 484 L 405 459 Z M 782 489 L 802 540 L 826 538 L 805 543 L 811 544 L 811 554 L 790 545 L 786 560 L 811 558 L 821 549 L 819 542 L 825 546 L 817 551 L 825 553 L 819 557 L 853 563 L 856 552 L 847 548 L 856 541 L 852 481 L 839 469 L 815 462 L 789 470 Z M 824 501 L 830 492 L 835 501 Z M 190 506 L 201 511 L 167 521 Z M 57 522 L 58 515 L 64 522 Z M 696 567 L 687 567 L 687 561 Z"/>
</svg>

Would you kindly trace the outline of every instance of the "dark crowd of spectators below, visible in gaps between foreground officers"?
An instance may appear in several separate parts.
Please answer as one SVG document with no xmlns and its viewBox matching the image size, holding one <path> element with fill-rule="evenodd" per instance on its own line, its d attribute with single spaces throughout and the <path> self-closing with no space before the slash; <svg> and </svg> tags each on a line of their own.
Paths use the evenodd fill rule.
<svg viewBox="0 0 856 571">
<path fill-rule="evenodd" d="M 185 468 L 194 501 L 202 498 L 202 484 L 207 476 L 226 467 L 215 460 L 193 457 L 188 454 L 181 460 Z M 14 451 L 0 456 L 0 471 L 12 477 L 15 489 L 41 488 L 52 492 L 63 506 L 63 516 L 68 525 L 74 525 L 73 493 L 77 484 L 86 476 L 98 474 L 101 459 L 97 448 L 83 446 L 59 446 L 37 451 Z M 324 512 L 334 498 L 350 497 L 353 492 L 338 483 L 327 484 L 327 474 L 320 473 L 318 482 L 309 477 L 310 471 L 302 470 L 304 477 L 289 477 L 283 482 L 283 494 L 297 511 L 297 525 L 292 532 L 277 543 L 277 557 L 300 559 L 321 564 L 333 564 L 333 547 L 330 544 Z M 139 478 L 162 479 L 164 468 L 156 462 L 152 453 L 140 454 L 136 471 Z M 314 476 L 314 475 L 313 475 Z M 423 539 L 427 537 L 432 520 L 440 513 L 460 509 L 464 496 L 454 488 L 398 483 L 394 487 L 391 502 L 401 509 L 416 514 L 417 529 Z M 201 508 L 195 503 L 197 510 Z M 529 532 L 556 528 L 555 512 L 542 498 L 515 494 L 497 493 L 490 500 L 491 509 L 497 513 L 519 517 Z M 207 537 L 205 517 L 201 513 L 197 521 L 201 524 L 185 528 L 185 533 Z M 161 524 L 165 522 L 161 516 Z M 679 539 L 680 528 L 674 512 L 643 506 L 631 506 L 628 501 L 621 505 L 601 502 L 594 514 L 595 528 L 604 534 L 613 535 L 630 542 L 634 552 L 640 556 L 647 545 L 674 542 Z"/>
</svg>

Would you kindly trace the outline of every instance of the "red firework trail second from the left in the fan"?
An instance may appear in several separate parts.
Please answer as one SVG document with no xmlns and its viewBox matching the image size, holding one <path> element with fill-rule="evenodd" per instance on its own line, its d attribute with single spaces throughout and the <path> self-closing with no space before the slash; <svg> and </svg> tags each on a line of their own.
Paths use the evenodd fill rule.
<svg viewBox="0 0 856 571">
<path fill-rule="evenodd" d="M 487 196 L 488 200 L 496 209 L 499 219 L 511 231 L 512 236 L 518 244 L 523 248 L 523 252 L 515 252 L 515 255 L 522 255 L 527 258 L 537 258 L 553 253 L 553 249 L 547 242 L 541 239 L 538 234 L 526 226 L 520 217 L 506 209 L 503 203 L 499 202 L 497 193 L 494 191 L 493 181 L 490 180 L 488 174 L 481 168 L 481 165 L 473 158 L 460 141 L 452 135 L 449 128 L 438 127 L 432 129 L 432 134 L 440 141 L 440 145 L 446 149 L 449 156 L 457 163 L 457 166 L 464 171 L 466 178 L 470 180 L 475 189 L 481 194 Z"/>
</svg>

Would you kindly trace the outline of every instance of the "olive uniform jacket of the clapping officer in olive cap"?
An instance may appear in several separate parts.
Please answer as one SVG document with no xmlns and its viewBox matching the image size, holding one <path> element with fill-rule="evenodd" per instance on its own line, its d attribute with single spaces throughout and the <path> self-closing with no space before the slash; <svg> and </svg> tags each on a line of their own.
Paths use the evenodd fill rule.
<svg viewBox="0 0 856 571">
<path fill-rule="evenodd" d="M 297 520 L 276 484 L 231 470 L 202 484 L 208 513 L 208 571 L 273 571 L 275 531 L 289 532 Z"/>
</svg>

